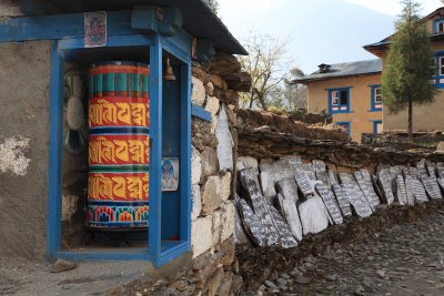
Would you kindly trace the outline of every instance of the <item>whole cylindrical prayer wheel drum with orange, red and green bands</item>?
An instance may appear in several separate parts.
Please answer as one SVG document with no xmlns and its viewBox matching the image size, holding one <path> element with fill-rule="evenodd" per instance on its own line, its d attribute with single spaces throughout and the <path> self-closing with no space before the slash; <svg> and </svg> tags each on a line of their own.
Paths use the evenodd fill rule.
<svg viewBox="0 0 444 296">
<path fill-rule="evenodd" d="M 94 64 L 89 72 L 89 226 L 148 227 L 149 67 Z"/>
</svg>

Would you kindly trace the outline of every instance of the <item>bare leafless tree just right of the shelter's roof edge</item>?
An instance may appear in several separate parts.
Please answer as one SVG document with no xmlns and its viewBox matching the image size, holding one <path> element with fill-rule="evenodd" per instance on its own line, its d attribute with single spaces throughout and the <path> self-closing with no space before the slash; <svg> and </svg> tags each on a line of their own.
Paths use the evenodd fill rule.
<svg viewBox="0 0 444 296">
<path fill-rule="evenodd" d="M 250 109 L 256 105 L 268 110 L 269 101 L 276 101 L 276 95 L 280 95 L 280 86 L 291 65 L 285 61 L 287 42 L 266 34 L 250 33 L 243 44 L 249 55 L 239 59 L 243 71 L 252 76 L 252 88 L 241 95 L 241 103 Z"/>
</svg>

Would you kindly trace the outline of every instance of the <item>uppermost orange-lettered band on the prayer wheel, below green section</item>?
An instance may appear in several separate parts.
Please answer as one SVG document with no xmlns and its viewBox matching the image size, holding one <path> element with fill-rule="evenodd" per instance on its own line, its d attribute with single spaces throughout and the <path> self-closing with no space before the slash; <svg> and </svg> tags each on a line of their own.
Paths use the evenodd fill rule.
<svg viewBox="0 0 444 296">
<path fill-rule="evenodd" d="M 150 126 L 148 98 L 93 98 L 89 103 L 90 127 Z"/>
</svg>

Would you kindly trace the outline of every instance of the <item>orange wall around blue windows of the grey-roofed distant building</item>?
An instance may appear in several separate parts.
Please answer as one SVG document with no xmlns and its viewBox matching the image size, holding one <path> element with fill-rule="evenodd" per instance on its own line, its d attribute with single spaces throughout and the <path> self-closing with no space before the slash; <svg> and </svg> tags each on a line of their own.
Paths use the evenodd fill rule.
<svg viewBox="0 0 444 296">
<path fill-rule="evenodd" d="M 329 111 L 329 89 L 352 88 L 350 90 L 351 113 L 335 113 L 333 122 L 351 122 L 351 137 L 354 142 L 361 142 L 362 133 L 373 133 L 373 122 L 382 120 L 382 111 L 370 112 L 371 88 L 369 86 L 381 84 L 381 74 L 311 81 L 305 84 L 309 88 L 307 110 L 310 113 Z"/>
</svg>

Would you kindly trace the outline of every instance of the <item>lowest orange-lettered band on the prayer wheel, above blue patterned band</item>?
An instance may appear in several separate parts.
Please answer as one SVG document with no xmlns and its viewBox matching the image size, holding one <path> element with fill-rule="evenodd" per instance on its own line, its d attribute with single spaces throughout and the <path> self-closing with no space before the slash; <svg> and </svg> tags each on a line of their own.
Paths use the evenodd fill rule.
<svg viewBox="0 0 444 296">
<path fill-rule="evenodd" d="M 135 172 L 89 173 L 88 200 L 112 202 L 149 201 L 149 175 Z"/>
</svg>

